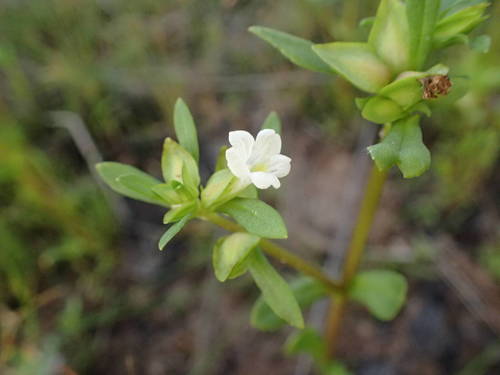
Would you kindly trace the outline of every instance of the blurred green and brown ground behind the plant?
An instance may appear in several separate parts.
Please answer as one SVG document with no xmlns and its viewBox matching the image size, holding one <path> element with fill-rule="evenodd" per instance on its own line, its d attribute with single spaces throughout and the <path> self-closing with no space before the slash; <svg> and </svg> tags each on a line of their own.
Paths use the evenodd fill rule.
<svg viewBox="0 0 500 375">
<path fill-rule="evenodd" d="M 192 224 L 160 253 L 161 210 L 106 190 L 93 165 L 159 175 L 182 96 L 206 178 L 229 130 L 255 132 L 276 110 L 295 171 L 267 198 L 294 233 L 290 247 L 321 262 L 348 220 L 336 209 L 372 125 L 349 84 L 292 66 L 247 28 L 361 40 L 358 22 L 377 4 L 2 1 L 0 373 L 294 373 L 287 331 L 249 327 L 250 280 L 214 281 L 213 228 Z M 500 373 L 500 4 L 489 11 L 475 31 L 491 35 L 489 53 L 455 46 L 436 57 L 470 77 L 470 92 L 424 120 L 431 171 L 394 171 L 386 189 L 367 266 L 400 269 L 411 290 L 390 324 L 352 308 L 340 354 L 356 374 Z"/>
</svg>

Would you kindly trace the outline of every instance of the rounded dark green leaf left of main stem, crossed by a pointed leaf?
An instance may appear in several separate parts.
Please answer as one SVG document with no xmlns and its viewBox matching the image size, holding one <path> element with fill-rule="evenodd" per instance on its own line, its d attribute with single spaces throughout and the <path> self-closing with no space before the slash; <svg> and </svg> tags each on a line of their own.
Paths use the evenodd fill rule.
<svg viewBox="0 0 500 375">
<path fill-rule="evenodd" d="M 300 277 L 293 280 L 290 287 L 301 309 L 308 308 L 317 300 L 328 295 L 328 291 L 323 284 L 309 277 Z M 250 321 L 255 328 L 261 331 L 276 331 L 285 325 L 283 319 L 276 316 L 262 297 L 255 301 Z"/>
</svg>

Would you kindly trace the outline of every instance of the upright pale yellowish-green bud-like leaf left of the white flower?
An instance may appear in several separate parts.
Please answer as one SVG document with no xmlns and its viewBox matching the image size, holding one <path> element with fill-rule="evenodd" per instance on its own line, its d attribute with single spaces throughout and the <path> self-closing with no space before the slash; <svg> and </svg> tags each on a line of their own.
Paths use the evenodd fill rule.
<svg viewBox="0 0 500 375">
<path fill-rule="evenodd" d="M 161 168 L 165 182 L 177 181 L 185 185 L 193 198 L 198 196 L 200 175 L 193 156 L 171 138 L 165 139 Z"/>
</svg>

